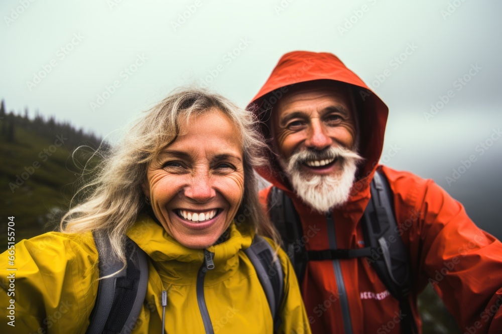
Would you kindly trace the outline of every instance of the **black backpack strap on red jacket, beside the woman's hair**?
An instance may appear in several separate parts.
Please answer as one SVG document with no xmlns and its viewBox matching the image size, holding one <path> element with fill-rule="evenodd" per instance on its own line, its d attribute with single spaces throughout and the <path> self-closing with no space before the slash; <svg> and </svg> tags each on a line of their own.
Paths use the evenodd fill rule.
<svg viewBox="0 0 502 334">
<path fill-rule="evenodd" d="M 291 260 L 301 288 L 307 268 L 307 252 L 302 241 L 303 229 L 300 217 L 291 198 L 277 187 L 272 187 L 270 190 L 268 204 L 270 220 L 281 235 L 282 248 Z"/>
</svg>

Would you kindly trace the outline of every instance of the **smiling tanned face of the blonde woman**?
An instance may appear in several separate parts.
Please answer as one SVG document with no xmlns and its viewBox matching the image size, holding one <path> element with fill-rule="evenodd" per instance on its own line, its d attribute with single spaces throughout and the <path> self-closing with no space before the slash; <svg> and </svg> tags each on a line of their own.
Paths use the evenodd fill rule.
<svg viewBox="0 0 502 334">
<path fill-rule="evenodd" d="M 179 133 L 150 163 L 143 190 L 169 235 L 186 247 L 207 248 L 242 201 L 240 135 L 218 109 L 180 120 Z"/>
</svg>

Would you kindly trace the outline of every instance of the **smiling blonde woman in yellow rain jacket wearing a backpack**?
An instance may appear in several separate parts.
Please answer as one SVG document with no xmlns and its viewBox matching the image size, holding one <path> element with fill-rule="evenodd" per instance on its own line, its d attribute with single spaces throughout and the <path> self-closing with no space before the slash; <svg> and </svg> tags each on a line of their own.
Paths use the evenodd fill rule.
<svg viewBox="0 0 502 334">
<path fill-rule="evenodd" d="M 61 232 L 15 246 L 15 295 L 4 286 L 0 297 L 2 313 L 15 305 L 15 326 L 3 317 L 0 328 L 85 333 L 97 323 L 103 333 L 310 332 L 293 268 L 272 240 L 257 197 L 253 167 L 264 142 L 251 117 L 194 89 L 149 110 L 81 189 L 84 199 L 63 217 Z M 259 233 L 272 237 L 270 261 L 279 259 L 284 273 L 275 319 L 263 282 L 277 271 L 270 274 L 270 266 L 262 274 L 270 277 L 260 277 L 246 252 Z M 133 272 L 131 259 L 142 252 L 145 297 L 134 325 L 116 328 L 126 312 L 120 307 L 132 304 L 124 296 L 141 288 L 138 280 L 117 278 L 110 294 L 100 284 Z M 119 263 L 111 271 L 103 265 L 110 258 Z M 6 262 L 0 262 L 4 282 L 13 272 Z M 118 308 L 103 316 L 96 305 L 106 303 Z"/>
</svg>

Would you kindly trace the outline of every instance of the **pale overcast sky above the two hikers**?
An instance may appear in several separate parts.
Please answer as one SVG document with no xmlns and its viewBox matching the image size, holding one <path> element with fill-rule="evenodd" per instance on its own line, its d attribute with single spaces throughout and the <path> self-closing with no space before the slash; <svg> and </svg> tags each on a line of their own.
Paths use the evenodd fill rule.
<svg viewBox="0 0 502 334">
<path fill-rule="evenodd" d="M 0 98 L 113 140 L 180 85 L 244 107 L 284 53 L 332 52 L 390 108 L 384 162 L 434 178 L 498 226 L 500 13 L 498 0 L 5 0 Z"/>
</svg>

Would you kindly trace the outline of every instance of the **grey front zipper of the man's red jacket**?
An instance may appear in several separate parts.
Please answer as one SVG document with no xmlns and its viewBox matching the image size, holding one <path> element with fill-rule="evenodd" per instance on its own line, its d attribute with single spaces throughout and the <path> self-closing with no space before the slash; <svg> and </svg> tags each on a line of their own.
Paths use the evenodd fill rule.
<svg viewBox="0 0 502 334">
<path fill-rule="evenodd" d="M 335 221 L 333 213 L 329 211 L 326 213 L 326 223 L 328 225 L 328 240 L 329 248 L 337 249 L 336 235 L 335 235 Z M 345 290 L 345 283 L 343 282 L 342 269 L 340 267 L 340 260 L 333 260 L 333 269 L 335 271 L 336 286 L 338 287 L 338 294 L 340 296 L 340 305 L 342 308 L 343 328 L 345 334 L 352 334 L 352 321 L 350 320 L 350 312 L 348 308 L 348 298 Z"/>
</svg>

